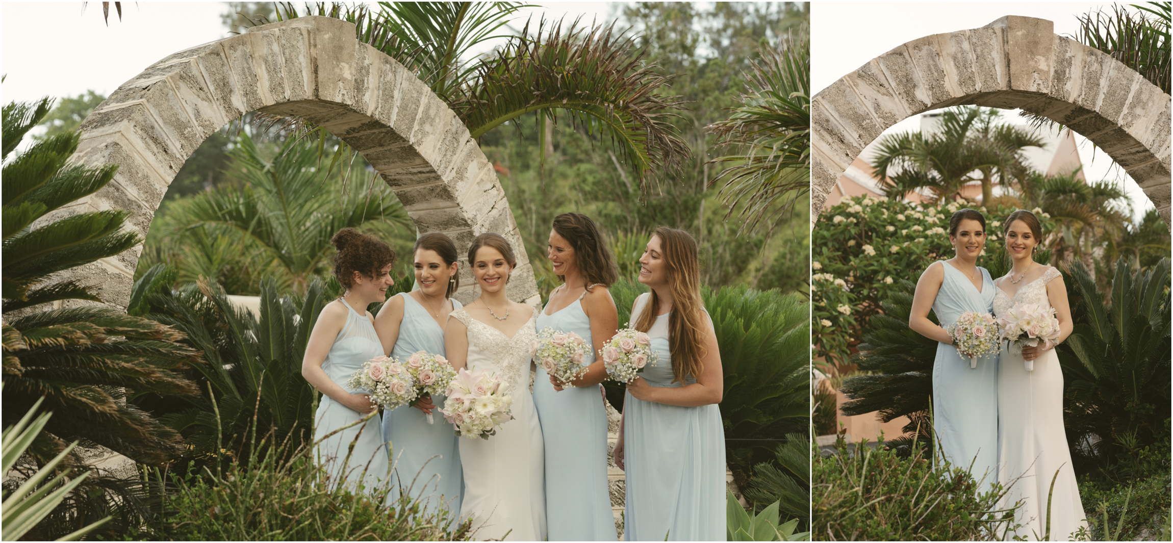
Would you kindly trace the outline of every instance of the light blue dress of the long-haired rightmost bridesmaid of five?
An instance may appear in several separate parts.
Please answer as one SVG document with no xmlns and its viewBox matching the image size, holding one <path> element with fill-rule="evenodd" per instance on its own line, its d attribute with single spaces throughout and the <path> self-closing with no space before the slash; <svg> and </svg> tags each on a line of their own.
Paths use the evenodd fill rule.
<svg viewBox="0 0 1173 543">
<path fill-rule="evenodd" d="M 642 294 L 631 321 L 646 310 Z M 647 331 L 659 357 L 640 376 L 653 387 L 672 382 L 669 314 Z M 696 382 L 689 380 L 689 384 Z M 623 399 L 626 467 L 625 541 L 725 541 L 725 429 L 716 403 L 678 407 Z"/>
</svg>

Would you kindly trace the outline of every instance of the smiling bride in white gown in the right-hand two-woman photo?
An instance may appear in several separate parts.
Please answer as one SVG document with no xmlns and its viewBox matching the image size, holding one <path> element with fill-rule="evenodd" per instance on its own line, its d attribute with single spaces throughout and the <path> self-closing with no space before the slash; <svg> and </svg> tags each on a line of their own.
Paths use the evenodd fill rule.
<svg viewBox="0 0 1173 543">
<path fill-rule="evenodd" d="M 1003 233 L 1011 267 L 995 283 L 995 317 L 1017 304 L 1053 307 L 1062 342 L 1072 328 L 1067 290 L 1058 270 L 1032 258 L 1043 238 L 1038 218 L 1030 211 L 1015 211 L 1006 217 Z M 1087 525 L 1063 430 L 1063 372 L 1055 345 L 1023 347 L 1022 352 L 1003 346 L 998 357 L 998 482 L 1010 487 L 1005 507 L 1023 502 L 1016 535 L 1035 539 L 1047 535 L 1047 496 L 1052 539 L 1067 539 Z M 1035 361 L 1033 371 L 1026 371 L 1024 360 Z"/>
</svg>

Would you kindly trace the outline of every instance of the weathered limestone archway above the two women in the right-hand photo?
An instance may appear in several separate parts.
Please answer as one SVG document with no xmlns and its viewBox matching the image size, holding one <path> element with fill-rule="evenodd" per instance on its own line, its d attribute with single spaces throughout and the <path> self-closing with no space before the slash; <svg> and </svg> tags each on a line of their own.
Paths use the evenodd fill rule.
<svg viewBox="0 0 1173 543">
<path fill-rule="evenodd" d="M 913 40 L 820 91 L 811 220 L 865 145 L 913 115 L 952 106 L 1021 108 L 1107 152 L 1169 220 L 1169 95 L 1111 56 L 1008 15 L 982 28 Z"/>
</svg>

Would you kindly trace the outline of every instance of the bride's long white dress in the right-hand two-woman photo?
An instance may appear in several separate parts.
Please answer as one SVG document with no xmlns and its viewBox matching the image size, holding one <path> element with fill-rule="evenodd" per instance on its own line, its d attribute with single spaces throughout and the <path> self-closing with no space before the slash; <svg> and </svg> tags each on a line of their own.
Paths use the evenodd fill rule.
<svg viewBox="0 0 1173 543">
<path fill-rule="evenodd" d="M 1013 298 L 1001 289 L 994 298 L 994 312 L 1005 314 L 1018 304 L 1050 307 L 1046 284 L 1060 277 L 1049 267 L 1043 276 L 1022 286 Z M 1022 349 L 1002 345 L 998 362 L 998 482 L 1010 487 L 1006 508 L 1023 500 L 1016 511 L 1023 524 L 1015 535 L 1028 539 L 1046 532 L 1047 494 L 1051 495 L 1051 539 L 1067 541 L 1086 527 L 1076 471 L 1071 467 L 1067 435 L 1063 429 L 1063 371 L 1055 349 L 1035 359 L 1035 369 L 1023 366 Z M 1058 471 L 1058 477 L 1056 477 Z M 1018 477 L 1022 478 L 1018 478 Z M 1017 478 L 1017 481 L 1015 481 Z M 1051 481 L 1055 480 L 1055 491 Z"/>
</svg>

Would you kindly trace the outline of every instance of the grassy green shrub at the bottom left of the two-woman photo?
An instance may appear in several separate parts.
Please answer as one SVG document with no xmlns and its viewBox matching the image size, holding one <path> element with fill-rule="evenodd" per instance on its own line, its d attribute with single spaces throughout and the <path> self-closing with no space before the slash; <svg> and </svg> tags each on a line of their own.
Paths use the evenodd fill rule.
<svg viewBox="0 0 1173 543">
<path fill-rule="evenodd" d="M 842 437 L 835 448 L 836 454 L 812 466 L 811 524 L 816 539 L 990 539 L 1013 518 L 1012 510 L 997 510 L 1001 487 L 979 491 L 984 482 L 948 462 L 934 470 L 921 449 L 904 457 L 865 440 L 848 450 Z"/>
</svg>

